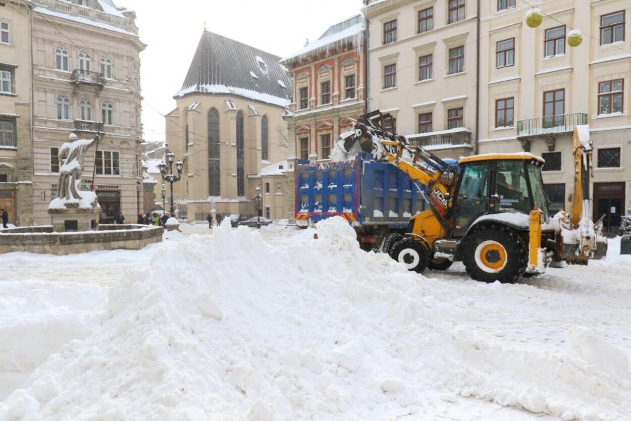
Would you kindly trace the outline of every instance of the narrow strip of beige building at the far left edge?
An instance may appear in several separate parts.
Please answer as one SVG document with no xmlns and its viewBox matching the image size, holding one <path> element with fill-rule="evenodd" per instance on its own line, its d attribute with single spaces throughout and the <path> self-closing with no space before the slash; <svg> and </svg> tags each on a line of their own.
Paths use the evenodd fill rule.
<svg viewBox="0 0 631 421">
<path fill-rule="evenodd" d="M 0 208 L 9 223 L 33 222 L 30 6 L 0 6 Z"/>
</svg>

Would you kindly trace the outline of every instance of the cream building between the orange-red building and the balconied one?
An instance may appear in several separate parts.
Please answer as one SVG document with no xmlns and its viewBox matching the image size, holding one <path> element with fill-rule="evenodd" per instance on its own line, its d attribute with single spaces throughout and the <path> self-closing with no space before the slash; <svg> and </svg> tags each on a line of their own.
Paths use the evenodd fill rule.
<svg viewBox="0 0 631 421">
<path fill-rule="evenodd" d="M 365 0 L 369 109 L 439 157 L 475 148 L 476 1 Z M 491 2 L 493 3 L 493 2 Z"/>
</svg>

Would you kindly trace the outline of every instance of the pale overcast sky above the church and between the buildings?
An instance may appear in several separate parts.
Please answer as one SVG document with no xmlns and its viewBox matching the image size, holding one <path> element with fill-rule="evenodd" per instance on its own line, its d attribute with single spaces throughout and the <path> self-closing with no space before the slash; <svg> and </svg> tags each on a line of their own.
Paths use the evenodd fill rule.
<svg viewBox="0 0 631 421">
<path fill-rule="evenodd" d="M 146 141 L 163 141 L 164 117 L 175 108 L 204 21 L 209 31 L 285 57 L 359 12 L 362 0 L 114 0 L 136 11 Z"/>
</svg>

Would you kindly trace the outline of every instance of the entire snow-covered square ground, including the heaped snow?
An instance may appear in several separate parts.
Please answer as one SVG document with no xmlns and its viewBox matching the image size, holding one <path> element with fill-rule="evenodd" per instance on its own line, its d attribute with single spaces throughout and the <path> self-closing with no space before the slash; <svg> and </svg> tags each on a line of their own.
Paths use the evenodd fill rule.
<svg viewBox="0 0 631 421">
<path fill-rule="evenodd" d="M 348 223 L 0 256 L 0 421 L 631 420 L 631 256 L 408 273 Z"/>
</svg>

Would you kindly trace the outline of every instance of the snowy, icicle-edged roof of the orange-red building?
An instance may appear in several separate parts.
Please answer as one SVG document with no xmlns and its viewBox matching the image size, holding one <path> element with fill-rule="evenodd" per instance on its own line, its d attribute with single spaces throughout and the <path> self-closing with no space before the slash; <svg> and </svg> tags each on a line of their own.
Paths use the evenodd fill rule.
<svg viewBox="0 0 631 421">
<path fill-rule="evenodd" d="M 305 45 L 302 49 L 285 57 L 281 63 L 296 61 L 310 54 L 317 54 L 322 50 L 331 50 L 341 42 L 351 41 L 353 45 L 363 42 L 364 20 L 362 15 L 355 15 L 350 19 L 336 23 L 322 34 L 322 36 Z"/>
</svg>

